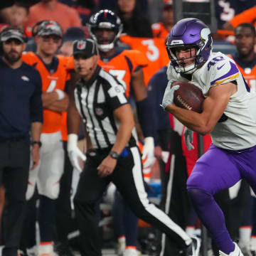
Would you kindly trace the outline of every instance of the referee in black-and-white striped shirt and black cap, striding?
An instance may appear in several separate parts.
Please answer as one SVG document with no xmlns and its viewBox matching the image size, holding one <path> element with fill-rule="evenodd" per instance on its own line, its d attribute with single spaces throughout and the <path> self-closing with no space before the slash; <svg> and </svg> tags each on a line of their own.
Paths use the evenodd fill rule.
<svg viewBox="0 0 256 256">
<path fill-rule="evenodd" d="M 144 189 L 142 161 L 137 148 L 132 108 L 122 85 L 97 65 L 99 54 L 91 39 L 73 44 L 75 70 L 80 74 L 68 109 L 68 153 L 73 166 L 82 152 L 77 139 L 80 117 L 87 132 L 87 160 L 75 194 L 81 255 L 100 256 L 95 204 L 112 181 L 134 213 L 159 228 L 186 252 L 195 249 L 191 238 L 164 212 L 150 204 Z"/>
</svg>

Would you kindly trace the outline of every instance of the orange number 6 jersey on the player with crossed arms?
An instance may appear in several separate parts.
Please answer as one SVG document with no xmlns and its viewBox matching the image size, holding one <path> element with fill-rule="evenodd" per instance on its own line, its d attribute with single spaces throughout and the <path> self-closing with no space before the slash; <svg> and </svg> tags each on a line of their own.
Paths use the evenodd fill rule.
<svg viewBox="0 0 256 256">
<path fill-rule="evenodd" d="M 45 64 L 33 52 L 23 53 L 22 60 L 35 67 L 42 79 L 42 91 L 43 92 L 53 92 L 53 90 L 60 89 L 65 90 L 65 83 L 69 80 L 69 74 L 66 69 L 66 58 L 58 58 L 58 67 L 56 70 L 53 70 L 52 73 L 48 71 Z M 62 114 L 59 112 L 55 112 L 53 110 L 48 110 L 46 108 L 43 109 L 43 133 L 53 133 L 61 130 L 61 121 Z"/>
</svg>

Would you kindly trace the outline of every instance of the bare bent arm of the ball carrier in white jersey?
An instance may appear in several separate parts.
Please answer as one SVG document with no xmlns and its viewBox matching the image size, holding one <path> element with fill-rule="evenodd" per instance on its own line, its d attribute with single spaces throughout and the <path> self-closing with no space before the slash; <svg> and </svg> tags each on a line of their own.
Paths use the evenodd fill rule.
<svg viewBox="0 0 256 256">
<path fill-rule="evenodd" d="M 231 95 L 237 91 L 237 85 L 227 82 L 223 85 L 211 87 L 208 97 L 203 101 L 203 112 L 197 113 L 184 110 L 174 104 L 166 107 L 166 111 L 174 114 L 181 123 L 199 134 L 209 134 L 222 116 Z"/>
</svg>

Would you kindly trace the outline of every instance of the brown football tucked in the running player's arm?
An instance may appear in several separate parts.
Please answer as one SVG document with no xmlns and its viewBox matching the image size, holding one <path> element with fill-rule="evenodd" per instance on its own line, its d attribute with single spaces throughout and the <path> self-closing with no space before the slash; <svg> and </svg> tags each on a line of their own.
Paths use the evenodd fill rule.
<svg viewBox="0 0 256 256">
<path fill-rule="evenodd" d="M 174 92 L 174 104 L 186 110 L 193 110 L 201 113 L 203 111 L 203 92 L 190 82 L 175 81 L 171 87 L 179 85 L 178 90 Z"/>
</svg>

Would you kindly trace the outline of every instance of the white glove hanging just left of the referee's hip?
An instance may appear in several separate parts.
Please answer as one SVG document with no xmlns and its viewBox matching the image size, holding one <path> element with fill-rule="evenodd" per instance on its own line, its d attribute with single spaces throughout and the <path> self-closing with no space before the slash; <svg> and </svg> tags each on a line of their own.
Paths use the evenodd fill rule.
<svg viewBox="0 0 256 256">
<path fill-rule="evenodd" d="M 82 172 L 82 169 L 79 164 L 79 158 L 82 159 L 82 161 L 85 161 L 86 156 L 78 148 L 77 134 L 68 134 L 68 157 L 70 159 L 72 166 L 79 172 Z"/>
</svg>

